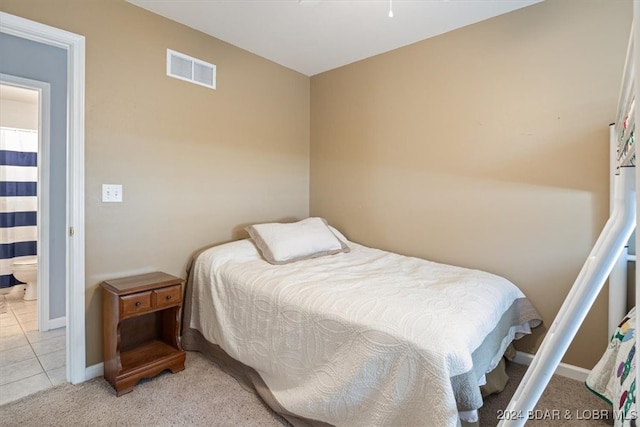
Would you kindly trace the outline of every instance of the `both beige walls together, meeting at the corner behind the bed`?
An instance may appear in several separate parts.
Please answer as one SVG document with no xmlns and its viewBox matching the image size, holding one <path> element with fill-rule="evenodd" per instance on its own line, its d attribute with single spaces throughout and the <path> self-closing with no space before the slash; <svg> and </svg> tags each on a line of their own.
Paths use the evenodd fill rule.
<svg viewBox="0 0 640 427">
<path fill-rule="evenodd" d="M 311 91 L 122 0 L 1 9 L 86 37 L 88 365 L 102 361 L 101 280 L 184 277 L 195 249 L 306 216 L 309 180 L 311 214 L 353 240 L 502 274 L 547 326 L 607 218 L 631 2 L 547 0 L 314 76 Z M 167 48 L 216 64 L 218 89 L 166 77 Z M 102 183 L 123 184 L 124 202 L 101 203 Z M 602 297 L 565 361 L 592 367 L 606 339 Z"/>
</svg>

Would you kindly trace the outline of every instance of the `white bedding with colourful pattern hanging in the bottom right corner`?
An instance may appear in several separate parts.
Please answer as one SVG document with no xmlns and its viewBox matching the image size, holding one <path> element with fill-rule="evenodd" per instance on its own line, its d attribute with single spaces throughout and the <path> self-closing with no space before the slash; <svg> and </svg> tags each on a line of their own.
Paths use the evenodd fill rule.
<svg viewBox="0 0 640 427">
<path fill-rule="evenodd" d="M 636 424 L 636 308 L 633 307 L 615 329 L 609 345 L 585 385 L 613 409 L 614 426 Z"/>
</svg>

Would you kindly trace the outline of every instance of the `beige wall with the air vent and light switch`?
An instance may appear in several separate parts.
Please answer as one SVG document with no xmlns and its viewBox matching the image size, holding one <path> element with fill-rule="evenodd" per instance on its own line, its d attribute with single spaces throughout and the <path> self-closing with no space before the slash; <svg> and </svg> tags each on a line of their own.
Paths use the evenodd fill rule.
<svg viewBox="0 0 640 427">
<path fill-rule="evenodd" d="M 309 209 L 309 78 L 122 0 L 3 0 L 86 37 L 87 365 L 102 361 L 100 281 L 163 270 L 243 225 Z M 166 76 L 170 48 L 217 90 Z M 124 202 L 102 203 L 103 183 Z"/>
</svg>

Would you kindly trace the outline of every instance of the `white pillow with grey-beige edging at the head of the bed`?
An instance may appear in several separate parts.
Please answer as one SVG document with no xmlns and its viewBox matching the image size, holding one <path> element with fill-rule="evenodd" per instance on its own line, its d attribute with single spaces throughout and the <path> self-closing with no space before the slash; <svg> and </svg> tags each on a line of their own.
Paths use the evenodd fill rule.
<svg viewBox="0 0 640 427">
<path fill-rule="evenodd" d="M 331 232 L 323 218 L 294 223 L 254 224 L 245 230 L 271 264 L 288 264 L 303 259 L 349 252 L 349 247 Z"/>
</svg>

